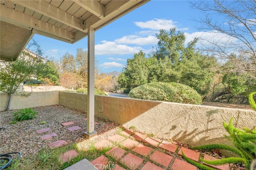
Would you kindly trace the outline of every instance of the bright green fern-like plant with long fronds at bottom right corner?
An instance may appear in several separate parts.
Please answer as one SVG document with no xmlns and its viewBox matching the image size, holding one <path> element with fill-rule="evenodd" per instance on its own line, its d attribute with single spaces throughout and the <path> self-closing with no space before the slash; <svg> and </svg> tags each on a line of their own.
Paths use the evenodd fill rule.
<svg viewBox="0 0 256 170">
<path fill-rule="evenodd" d="M 208 144 L 203 146 L 192 147 L 192 149 L 198 150 L 213 150 L 213 149 L 224 149 L 234 152 L 240 157 L 230 157 L 223 158 L 220 160 L 202 160 L 206 164 L 211 165 L 222 165 L 222 164 L 231 164 L 231 163 L 239 163 L 245 164 L 246 170 L 256 170 L 256 127 L 253 130 L 248 128 L 244 128 L 243 130 L 233 127 L 233 117 L 230 119 L 228 125 L 223 122 L 223 126 L 230 134 L 230 139 L 232 140 L 233 146 L 228 146 L 225 144 Z M 190 158 L 186 157 L 182 153 L 183 157 L 191 164 L 194 164 L 198 168 L 204 170 L 208 170 L 208 166 L 203 164 L 199 164 Z"/>
</svg>

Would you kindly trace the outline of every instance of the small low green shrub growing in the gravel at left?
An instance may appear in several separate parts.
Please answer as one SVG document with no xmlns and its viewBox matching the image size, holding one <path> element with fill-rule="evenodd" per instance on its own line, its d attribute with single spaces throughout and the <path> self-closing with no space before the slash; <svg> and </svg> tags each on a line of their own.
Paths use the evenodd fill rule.
<svg viewBox="0 0 256 170">
<path fill-rule="evenodd" d="M 29 119 L 34 119 L 36 118 L 36 111 L 30 108 L 26 109 L 20 109 L 17 112 L 14 112 L 14 120 L 16 121 L 26 121 Z"/>
</svg>

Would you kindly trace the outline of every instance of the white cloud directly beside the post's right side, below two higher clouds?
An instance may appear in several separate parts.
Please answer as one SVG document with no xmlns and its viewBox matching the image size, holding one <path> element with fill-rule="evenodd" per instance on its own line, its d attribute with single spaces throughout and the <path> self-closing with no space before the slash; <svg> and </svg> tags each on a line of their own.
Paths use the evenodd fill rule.
<svg viewBox="0 0 256 170">
<path fill-rule="evenodd" d="M 131 47 L 117 44 L 116 42 L 102 41 L 102 44 L 95 45 L 96 55 L 124 55 L 138 53 L 140 50 L 145 51 L 142 47 Z"/>
</svg>

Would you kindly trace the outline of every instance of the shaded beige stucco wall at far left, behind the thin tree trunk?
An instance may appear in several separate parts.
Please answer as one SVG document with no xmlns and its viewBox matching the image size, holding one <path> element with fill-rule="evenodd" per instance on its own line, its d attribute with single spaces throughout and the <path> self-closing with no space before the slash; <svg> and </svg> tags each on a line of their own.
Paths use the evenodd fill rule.
<svg viewBox="0 0 256 170">
<path fill-rule="evenodd" d="M 58 91 L 32 92 L 25 94 L 29 95 L 13 95 L 10 110 L 59 104 Z M 0 93 L 0 111 L 4 111 L 6 109 L 8 99 L 8 94 Z"/>
</svg>

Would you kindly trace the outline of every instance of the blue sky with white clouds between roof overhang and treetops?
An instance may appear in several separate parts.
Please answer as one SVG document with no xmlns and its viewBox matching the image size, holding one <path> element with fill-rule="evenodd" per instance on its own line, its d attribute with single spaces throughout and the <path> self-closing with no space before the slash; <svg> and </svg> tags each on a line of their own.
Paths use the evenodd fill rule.
<svg viewBox="0 0 256 170">
<path fill-rule="evenodd" d="M 200 11 L 190 7 L 190 1 L 152 0 L 133 10 L 118 20 L 95 32 L 95 57 L 101 72 L 121 72 L 126 65 L 126 59 L 142 50 L 150 53 L 156 46 L 155 34 L 160 29 L 169 30 L 176 27 L 184 32 L 186 42 L 205 32 L 198 32 L 192 18 L 200 16 Z M 210 33 L 206 37 L 212 36 Z M 77 48 L 87 50 L 87 37 L 69 44 L 34 35 L 34 39 L 42 46 L 44 57 L 59 59 L 66 52 L 76 55 Z"/>
</svg>

